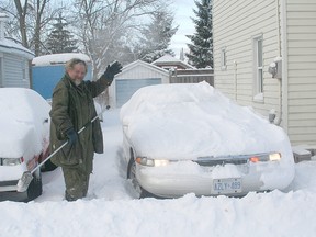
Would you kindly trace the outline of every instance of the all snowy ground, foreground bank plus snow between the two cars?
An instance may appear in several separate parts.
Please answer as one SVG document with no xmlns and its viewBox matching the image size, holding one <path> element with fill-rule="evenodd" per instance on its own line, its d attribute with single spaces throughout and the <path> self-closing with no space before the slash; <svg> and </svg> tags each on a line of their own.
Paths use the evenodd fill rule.
<svg viewBox="0 0 316 237">
<path fill-rule="evenodd" d="M 135 200 L 120 161 L 119 110 L 104 113 L 103 135 L 105 154 L 95 155 L 87 199 L 63 200 L 60 170 L 44 173 L 35 201 L 0 202 L 0 237 L 316 236 L 316 161 L 295 165 L 295 179 L 282 192 Z"/>
</svg>

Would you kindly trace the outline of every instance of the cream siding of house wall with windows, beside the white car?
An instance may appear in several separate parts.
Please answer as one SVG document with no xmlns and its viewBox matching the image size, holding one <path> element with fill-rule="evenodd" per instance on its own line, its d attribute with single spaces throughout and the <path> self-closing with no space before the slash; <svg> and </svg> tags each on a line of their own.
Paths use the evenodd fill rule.
<svg viewBox="0 0 316 237">
<path fill-rule="evenodd" d="M 268 72 L 279 56 L 278 14 L 274 0 L 215 0 L 213 5 L 215 87 L 241 105 L 267 116 L 279 108 L 279 83 Z M 256 18 L 253 18 L 256 15 Z M 263 101 L 253 101 L 252 41 L 263 42 Z M 221 70 L 221 49 L 226 48 L 226 70 Z"/>
</svg>

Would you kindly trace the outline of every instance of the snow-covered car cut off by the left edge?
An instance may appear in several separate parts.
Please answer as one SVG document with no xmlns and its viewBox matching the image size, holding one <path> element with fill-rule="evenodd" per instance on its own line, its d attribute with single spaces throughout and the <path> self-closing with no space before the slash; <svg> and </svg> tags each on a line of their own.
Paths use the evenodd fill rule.
<svg viewBox="0 0 316 237">
<path fill-rule="evenodd" d="M 48 155 L 49 110 L 31 89 L 0 88 L 0 201 L 30 201 L 42 194 L 40 168 L 26 191 L 20 191 L 18 182 Z"/>
</svg>

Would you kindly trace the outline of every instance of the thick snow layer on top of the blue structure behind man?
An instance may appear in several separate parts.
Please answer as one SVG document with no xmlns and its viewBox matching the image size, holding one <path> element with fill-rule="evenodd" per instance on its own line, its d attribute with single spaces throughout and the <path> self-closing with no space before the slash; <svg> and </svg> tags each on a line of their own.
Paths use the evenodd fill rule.
<svg viewBox="0 0 316 237">
<path fill-rule="evenodd" d="M 65 64 L 71 58 L 79 58 L 87 63 L 90 63 L 91 59 L 88 55 L 81 53 L 64 53 L 64 54 L 52 54 L 52 55 L 43 55 L 40 57 L 35 57 L 32 60 L 33 66 L 47 66 L 47 65 L 56 65 L 56 64 Z"/>
</svg>

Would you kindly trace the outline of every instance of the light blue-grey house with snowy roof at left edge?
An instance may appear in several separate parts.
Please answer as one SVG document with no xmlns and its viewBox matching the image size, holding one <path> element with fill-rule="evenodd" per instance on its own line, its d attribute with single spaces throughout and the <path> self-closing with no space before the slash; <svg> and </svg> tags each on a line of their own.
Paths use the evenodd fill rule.
<svg viewBox="0 0 316 237">
<path fill-rule="evenodd" d="M 0 87 L 30 88 L 30 61 L 34 54 L 4 37 L 7 15 L 0 13 Z"/>
</svg>

